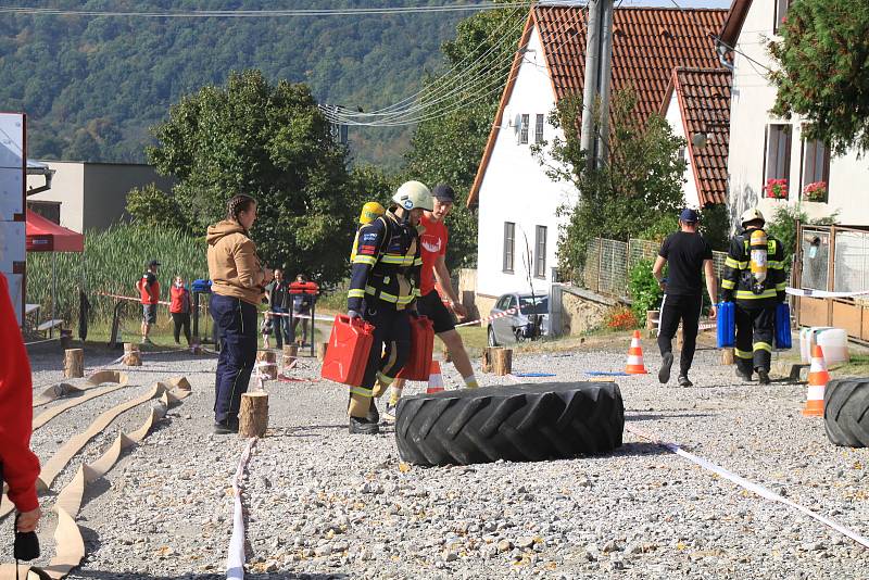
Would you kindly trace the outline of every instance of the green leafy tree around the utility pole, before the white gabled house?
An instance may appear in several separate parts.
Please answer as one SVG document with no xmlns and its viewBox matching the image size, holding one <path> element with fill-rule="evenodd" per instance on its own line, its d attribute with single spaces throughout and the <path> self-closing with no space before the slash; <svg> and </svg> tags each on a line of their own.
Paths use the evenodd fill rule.
<svg viewBox="0 0 869 580">
<path fill-rule="evenodd" d="M 633 90 L 613 96 L 610 154 L 600 168 L 587 168 L 580 148 L 579 94 L 562 99 L 550 115 L 550 123 L 563 129 L 564 137 L 533 148 L 550 178 L 570 181 L 581 192 L 574 206 L 561 209 L 568 219 L 558 236 L 558 265 L 571 279 L 584 265 L 593 238 L 627 241 L 677 215 L 684 204 L 685 162 L 679 154 L 684 140 L 672 134 L 660 115 L 653 114 L 643 124 L 635 108 Z"/>
</svg>

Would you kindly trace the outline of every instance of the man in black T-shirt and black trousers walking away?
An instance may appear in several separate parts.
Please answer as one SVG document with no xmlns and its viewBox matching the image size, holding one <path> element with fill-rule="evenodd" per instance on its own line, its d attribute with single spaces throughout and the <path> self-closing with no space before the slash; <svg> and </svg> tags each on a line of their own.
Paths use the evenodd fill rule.
<svg viewBox="0 0 869 580">
<path fill-rule="evenodd" d="M 660 349 L 660 370 L 658 380 L 666 383 L 670 380 L 672 366 L 672 337 L 682 320 L 682 355 L 679 360 L 679 387 L 692 387 L 688 378 L 691 362 L 694 360 L 694 348 L 697 341 L 700 311 L 703 307 L 703 283 L 701 270 L 706 275 L 706 290 L 709 292 L 713 306 L 709 317 L 715 318 L 715 299 L 718 292 L 713 266 L 713 250 L 709 243 L 697 234 L 700 216 L 694 210 L 683 210 L 679 215 L 680 231 L 670 234 L 660 245 L 652 275 L 664 290 L 660 305 L 660 326 L 658 327 L 658 348 Z M 667 282 L 663 281 L 662 270 L 669 264 Z"/>
</svg>

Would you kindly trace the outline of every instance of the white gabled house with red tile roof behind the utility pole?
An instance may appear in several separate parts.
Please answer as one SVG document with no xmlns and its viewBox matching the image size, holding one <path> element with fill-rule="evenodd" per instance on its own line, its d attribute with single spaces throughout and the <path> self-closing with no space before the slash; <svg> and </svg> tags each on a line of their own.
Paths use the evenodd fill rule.
<svg viewBox="0 0 869 580">
<path fill-rule="evenodd" d="M 613 91 L 633 87 L 644 119 L 662 109 L 677 66 L 720 66 L 714 36 L 723 10 L 625 8 L 614 12 Z M 476 300 L 488 312 L 508 291 L 547 292 L 557 266 L 557 240 L 576 190 L 553 182 L 531 146 L 555 136 L 555 103 L 582 93 L 585 12 L 582 7 L 534 5 L 480 162 L 468 205 L 478 205 Z"/>
</svg>

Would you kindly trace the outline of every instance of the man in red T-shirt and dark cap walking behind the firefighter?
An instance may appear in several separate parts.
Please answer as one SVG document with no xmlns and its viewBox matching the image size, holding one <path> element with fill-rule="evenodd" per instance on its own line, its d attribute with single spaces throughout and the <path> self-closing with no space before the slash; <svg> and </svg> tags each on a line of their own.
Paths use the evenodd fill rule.
<svg viewBox="0 0 869 580">
<path fill-rule="evenodd" d="M 470 358 L 465 351 L 462 336 L 456 331 L 453 316 L 450 313 L 451 310 L 461 317 L 467 316 L 465 306 L 458 301 L 458 297 L 453 290 L 445 257 L 450 235 L 443 220 L 453 211 L 455 192 L 450 186 L 439 185 L 431 191 L 431 197 L 434 198 L 433 210 L 424 212 L 420 222 L 423 229 L 419 235 L 419 244 L 423 270 L 419 282 L 421 295 L 416 301 L 417 311 L 431 319 L 434 325 L 434 333 L 450 351 L 453 365 L 465 380 L 465 386 L 468 389 L 475 389 L 478 387 L 477 377 L 474 375 L 474 367 L 470 366 Z M 441 293 L 445 298 L 441 298 Z M 448 305 L 450 310 L 448 310 Z M 383 414 L 387 418 L 395 418 L 395 406 L 399 404 L 403 389 L 403 379 L 395 379 L 392 382 L 389 403 Z"/>
</svg>

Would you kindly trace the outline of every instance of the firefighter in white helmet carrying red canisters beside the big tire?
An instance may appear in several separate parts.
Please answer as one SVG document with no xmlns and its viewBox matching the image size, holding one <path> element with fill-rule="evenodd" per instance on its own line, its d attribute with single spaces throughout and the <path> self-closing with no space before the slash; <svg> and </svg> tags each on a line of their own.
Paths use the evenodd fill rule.
<svg viewBox="0 0 869 580">
<path fill-rule="evenodd" d="M 375 327 L 361 387 L 350 389 L 350 432 L 379 432 L 380 416 L 373 398 L 382 394 L 404 367 L 411 351 L 410 311 L 419 297 L 417 227 L 423 211 L 431 211 L 431 192 L 407 181 L 392 197 L 393 207 L 360 228 L 348 292 L 348 315 Z"/>
</svg>

